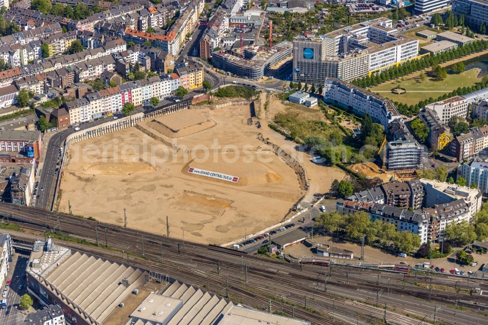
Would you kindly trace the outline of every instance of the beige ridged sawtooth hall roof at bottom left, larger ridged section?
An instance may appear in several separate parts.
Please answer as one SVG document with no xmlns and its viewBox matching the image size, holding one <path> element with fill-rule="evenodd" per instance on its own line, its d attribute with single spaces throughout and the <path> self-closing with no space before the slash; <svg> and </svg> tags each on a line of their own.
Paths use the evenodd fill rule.
<svg viewBox="0 0 488 325">
<path fill-rule="evenodd" d="M 30 262 L 27 272 L 88 323 L 102 323 L 132 290 L 147 283 L 142 269 L 52 242 L 33 251 Z"/>
</svg>

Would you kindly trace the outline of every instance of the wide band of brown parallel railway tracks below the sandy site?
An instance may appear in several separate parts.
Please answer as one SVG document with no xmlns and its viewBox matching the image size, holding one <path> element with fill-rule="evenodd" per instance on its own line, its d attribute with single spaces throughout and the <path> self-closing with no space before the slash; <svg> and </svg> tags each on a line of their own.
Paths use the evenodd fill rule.
<svg viewBox="0 0 488 325">
<path fill-rule="evenodd" d="M 285 264 L 221 247 L 184 243 L 157 234 L 99 223 L 96 220 L 52 214 L 41 209 L 6 203 L 0 203 L 0 215 L 8 216 L 10 222 L 22 228 L 38 232 L 37 238 L 42 236 L 43 231 L 69 235 L 92 245 L 62 242 L 63 245 L 118 261 L 126 261 L 128 256 L 128 262 L 131 264 L 142 265 L 143 268 L 150 268 L 200 287 L 207 284 L 215 288 L 213 292 L 219 295 L 225 296 L 226 281 L 229 281 L 231 294 L 243 299 L 245 304 L 263 307 L 271 299 L 273 304 L 286 310 L 288 315 L 294 314 L 296 310 L 297 316 L 301 313 L 304 319 L 311 320 L 313 324 L 337 324 L 338 321 L 344 324 L 370 324 L 372 319 L 381 320 L 384 318 L 384 310 L 371 307 L 376 305 L 376 302 L 375 299 L 371 300 L 371 294 L 367 292 L 384 292 L 386 288 L 389 288 L 388 296 L 383 293 L 378 298 L 379 302 L 381 298 L 381 303 L 386 304 L 386 318 L 394 323 L 410 324 L 412 319 L 398 312 L 408 312 L 417 319 L 422 319 L 426 315 L 431 317 L 435 308 L 433 303 L 426 303 L 428 298 L 439 305 L 455 304 L 452 293 L 433 289 L 432 284 L 452 284 L 462 291 L 473 286 L 487 286 L 482 279 L 470 279 L 468 283 L 445 276 L 407 275 L 345 265 L 324 267 Z M 33 240 L 32 235 L 18 233 L 16 236 L 31 236 L 30 240 Z M 119 252 L 93 246 L 97 240 L 99 244 L 107 244 Z M 318 289 L 324 287 L 324 281 L 327 282 L 326 292 Z M 305 302 L 310 292 L 313 292 L 315 298 L 313 301 Z M 415 298 L 410 298 L 411 295 Z M 279 299 L 280 296 L 287 298 L 282 300 Z M 456 317 L 451 317 L 451 320 L 438 318 L 439 320 L 446 324 L 468 325 L 478 321 L 480 324 L 488 324 L 487 318 L 473 314 L 483 298 L 471 297 L 464 292 L 456 298 L 467 311 L 456 312 Z M 350 306 L 351 299 L 361 304 Z M 335 305 L 334 302 L 338 304 Z M 310 308 L 314 312 L 310 312 Z M 371 312 L 368 313 L 368 310 Z M 443 310 L 449 311 L 446 308 Z M 337 318 L 334 320 L 335 323 L 331 320 L 332 315 Z M 414 320 L 412 324 L 419 324 L 418 320 Z"/>
</svg>

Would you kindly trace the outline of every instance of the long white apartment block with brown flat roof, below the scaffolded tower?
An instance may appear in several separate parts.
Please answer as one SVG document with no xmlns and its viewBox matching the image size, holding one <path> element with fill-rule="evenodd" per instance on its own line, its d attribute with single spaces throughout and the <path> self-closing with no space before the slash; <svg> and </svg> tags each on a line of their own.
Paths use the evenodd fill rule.
<svg viewBox="0 0 488 325">
<path fill-rule="evenodd" d="M 401 119 L 396 107 L 386 98 L 338 79 L 325 80 L 324 102 L 353 110 L 359 115 L 368 114 L 385 129 L 390 122 Z"/>
</svg>

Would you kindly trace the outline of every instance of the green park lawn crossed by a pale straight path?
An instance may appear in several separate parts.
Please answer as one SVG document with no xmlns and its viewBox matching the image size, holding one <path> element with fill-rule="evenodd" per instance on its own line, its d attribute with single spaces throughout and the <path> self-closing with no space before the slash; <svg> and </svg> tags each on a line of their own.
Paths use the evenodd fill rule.
<svg viewBox="0 0 488 325">
<path fill-rule="evenodd" d="M 476 82 L 480 81 L 476 78 L 478 72 L 476 70 L 468 70 L 459 75 L 448 74 L 443 81 L 432 81 L 426 76 L 424 82 L 419 78 L 412 78 L 405 81 L 397 79 L 395 81 L 388 81 L 369 90 L 379 93 L 382 97 L 386 97 L 394 102 L 403 102 L 408 105 L 415 105 L 416 103 L 426 100 L 429 97 L 437 98 L 449 93 L 458 87 L 470 87 Z M 402 88 L 407 90 L 407 93 L 402 95 L 395 95 L 391 93 L 391 89 L 395 88 L 400 83 Z"/>
</svg>

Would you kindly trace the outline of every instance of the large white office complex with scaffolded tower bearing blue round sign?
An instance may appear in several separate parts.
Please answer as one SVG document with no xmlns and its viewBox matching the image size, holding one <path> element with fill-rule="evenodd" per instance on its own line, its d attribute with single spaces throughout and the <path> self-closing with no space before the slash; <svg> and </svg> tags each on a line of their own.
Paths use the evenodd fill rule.
<svg viewBox="0 0 488 325">
<path fill-rule="evenodd" d="M 397 33 L 386 18 L 294 41 L 293 80 L 351 80 L 418 55 L 418 40 Z M 363 53 L 366 52 L 366 53 Z"/>
</svg>

